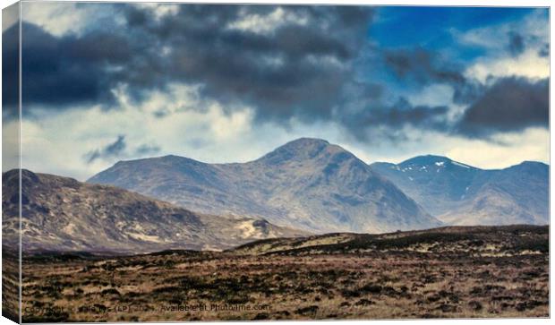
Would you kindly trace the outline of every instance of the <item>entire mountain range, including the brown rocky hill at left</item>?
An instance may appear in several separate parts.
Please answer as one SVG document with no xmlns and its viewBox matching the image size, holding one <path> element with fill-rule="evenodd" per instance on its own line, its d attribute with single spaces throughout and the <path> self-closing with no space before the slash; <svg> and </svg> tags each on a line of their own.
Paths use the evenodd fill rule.
<svg viewBox="0 0 555 325">
<path fill-rule="evenodd" d="M 3 174 L 16 245 L 19 171 Z M 26 251 L 224 250 L 258 239 L 446 225 L 549 224 L 549 166 L 485 170 L 440 156 L 368 165 L 319 139 L 246 163 L 120 161 L 87 183 L 21 170 Z"/>
</svg>

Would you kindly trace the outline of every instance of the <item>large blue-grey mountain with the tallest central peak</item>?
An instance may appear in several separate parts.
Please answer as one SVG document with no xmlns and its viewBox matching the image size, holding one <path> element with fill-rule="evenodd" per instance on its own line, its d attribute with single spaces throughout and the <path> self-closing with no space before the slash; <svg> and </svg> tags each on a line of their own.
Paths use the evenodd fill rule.
<svg viewBox="0 0 555 325">
<path fill-rule="evenodd" d="M 440 226 L 397 186 L 337 145 L 302 138 L 247 163 L 166 156 L 120 161 L 91 177 L 188 210 L 266 218 L 316 233 Z"/>
</svg>

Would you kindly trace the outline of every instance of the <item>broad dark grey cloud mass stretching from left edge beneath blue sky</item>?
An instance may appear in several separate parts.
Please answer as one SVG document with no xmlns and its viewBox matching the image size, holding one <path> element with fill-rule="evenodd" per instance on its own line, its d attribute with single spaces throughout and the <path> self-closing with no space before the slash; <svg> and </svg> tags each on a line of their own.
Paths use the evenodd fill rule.
<svg viewBox="0 0 555 325">
<path fill-rule="evenodd" d="M 369 42 L 371 7 L 183 4 L 177 13 L 162 17 L 131 4 L 114 4 L 114 8 L 122 26 L 92 24 L 80 35 L 55 37 L 36 25 L 23 24 L 24 104 L 32 104 L 31 109 L 35 105 L 69 109 L 81 104 L 107 109 L 116 107 L 112 90 L 118 85 L 128 86 L 133 104 L 149 90 L 165 91 L 177 82 L 200 85 L 201 99 L 218 100 L 226 113 L 248 105 L 257 122 L 287 124 L 292 117 L 307 123 L 333 121 L 359 140 L 367 140 L 373 129 L 388 129 L 389 134 L 382 136 L 398 140 L 404 126 L 452 132 L 448 107 L 414 107 L 402 98 L 391 105 L 396 95 L 384 96 L 387 84 L 375 81 L 383 76 L 361 77 L 372 70 L 361 58 L 376 56 L 402 86 L 419 89 L 444 83 L 455 90 L 455 103 L 474 103 L 465 120 L 457 124 L 457 133 L 475 137 L 517 128 L 485 121 L 483 113 L 477 113 L 491 110 L 483 107 L 495 101 L 489 98 L 502 97 L 505 90 L 486 89 L 468 80 L 464 67 L 423 47 L 384 49 Z M 252 23 L 258 30 L 233 28 L 238 21 L 274 14 L 278 8 L 282 16 L 277 20 Z M 8 30 L 4 38 L 10 33 L 17 35 Z M 525 44 L 522 39 L 519 43 L 517 34 L 513 38 L 511 47 L 517 53 Z M 9 60 L 17 56 L 17 50 L 3 52 L 3 56 Z M 518 88 L 512 86 L 506 91 Z M 513 106 L 509 109 L 516 109 Z M 175 113 L 160 107 L 154 116 L 169 114 Z M 521 116 L 530 124 L 526 119 L 530 117 Z M 158 150 L 155 145 L 127 150 L 122 135 L 106 148 L 91 150 L 85 159 L 90 163 Z"/>
</svg>

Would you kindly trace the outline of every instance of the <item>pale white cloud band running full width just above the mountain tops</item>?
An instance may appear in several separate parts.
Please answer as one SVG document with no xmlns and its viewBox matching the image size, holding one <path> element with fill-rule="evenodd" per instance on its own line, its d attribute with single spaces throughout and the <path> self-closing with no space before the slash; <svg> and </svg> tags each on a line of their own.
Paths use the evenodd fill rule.
<svg viewBox="0 0 555 325">
<path fill-rule="evenodd" d="M 367 140 L 361 141 L 354 138 L 353 133 L 346 130 L 347 124 L 338 119 L 309 123 L 293 118 L 287 125 L 253 123 L 252 107 L 235 107 L 231 113 L 226 113 L 221 103 L 198 98 L 194 87 L 172 85 L 170 89 L 168 92 L 149 91 L 139 106 L 127 101 L 127 90 L 118 90 L 116 102 L 119 108 L 109 111 L 98 106 L 62 112 L 38 110 L 37 119 L 25 119 L 22 124 L 24 167 L 84 180 L 121 159 L 174 154 L 209 163 L 250 161 L 303 136 L 340 144 L 367 162 L 401 161 L 428 153 L 448 155 L 477 167 L 507 167 L 525 159 L 549 161 L 549 131 L 544 128 L 535 128 L 533 133 L 526 129 L 511 137 L 492 135 L 495 141 L 483 141 L 461 134 L 417 128 L 412 124 L 389 127 L 376 121 L 368 127 Z M 184 109 L 196 107 L 200 102 L 206 107 Z M 164 103 L 172 113 L 153 117 L 152 113 Z M 403 105 L 397 107 L 406 108 Z M 441 113 L 441 110 L 436 112 Z M 440 117 L 442 114 L 436 116 Z M 390 121 L 396 121 L 395 117 Z M 5 126 L 6 132 L 17 130 L 15 121 Z M 125 136 L 126 144 L 126 150 L 118 157 L 97 158 L 91 163 L 83 158 L 91 151 L 101 151 L 115 143 L 118 135 Z M 499 141 L 508 144 L 500 145 Z M 141 150 L 143 145 L 159 150 L 144 152 Z M 480 151 L 476 154 L 478 151 L 474 148 L 478 146 Z M 485 154 L 488 152 L 495 155 Z"/>
</svg>

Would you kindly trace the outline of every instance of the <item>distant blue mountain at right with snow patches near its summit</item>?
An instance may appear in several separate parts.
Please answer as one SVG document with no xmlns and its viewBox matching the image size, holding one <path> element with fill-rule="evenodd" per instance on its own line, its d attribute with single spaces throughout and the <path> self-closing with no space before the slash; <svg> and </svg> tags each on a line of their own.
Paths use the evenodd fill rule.
<svg viewBox="0 0 555 325">
<path fill-rule="evenodd" d="M 451 225 L 549 223 L 549 167 L 539 162 L 485 170 L 446 157 L 420 156 L 371 168 Z"/>
</svg>

